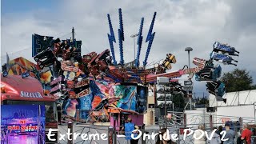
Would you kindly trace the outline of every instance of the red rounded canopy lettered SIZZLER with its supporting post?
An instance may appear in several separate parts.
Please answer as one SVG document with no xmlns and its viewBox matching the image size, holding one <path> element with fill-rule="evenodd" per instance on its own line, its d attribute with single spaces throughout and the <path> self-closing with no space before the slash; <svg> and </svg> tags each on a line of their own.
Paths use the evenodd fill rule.
<svg viewBox="0 0 256 144">
<path fill-rule="evenodd" d="M 48 130 L 58 129 L 56 98 L 43 93 L 42 85 L 36 78 L 22 78 L 21 75 L 1 74 L 1 105 L 44 105 L 46 106 L 46 134 Z M 54 137 L 52 137 L 54 138 Z M 57 143 L 58 133 L 55 133 Z"/>
</svg>

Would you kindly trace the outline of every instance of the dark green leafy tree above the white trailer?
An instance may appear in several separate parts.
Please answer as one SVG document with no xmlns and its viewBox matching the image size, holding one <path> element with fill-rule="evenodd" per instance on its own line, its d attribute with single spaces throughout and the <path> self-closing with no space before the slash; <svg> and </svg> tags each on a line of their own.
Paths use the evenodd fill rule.
<svg viewBox="0 0 256 144">
<path fill-rule="evenodd" d="M 249 71 L 245 69 L 234 69 L 231 72 L 224 73 L 221 80 L 225 83 L 226 92 L 256 89 L 253 78 Z"/>
</svg>

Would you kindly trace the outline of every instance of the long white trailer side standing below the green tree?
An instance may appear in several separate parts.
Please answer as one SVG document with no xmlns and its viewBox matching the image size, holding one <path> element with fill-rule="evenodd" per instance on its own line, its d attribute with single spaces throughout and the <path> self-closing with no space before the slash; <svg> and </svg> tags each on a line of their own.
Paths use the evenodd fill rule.
<svg viewBox="0 0 256 144">
<path fill-rule="evenodd" d="M 219 126 L 227 121 L 239 121 L 256 124 L 256 90 L 245 90 L 239 92 L 226 93 L 224 102 L 217 102 L 214 95 L 209 96 L 209 106 L 215 107 L 212 113 L 206 108 L 196 110 L 186 110 L 186 126 L 196 128 L 199 124 L 206 126 Z M 240 119 L 241 120 L 241 119 Z"/>
</svg>

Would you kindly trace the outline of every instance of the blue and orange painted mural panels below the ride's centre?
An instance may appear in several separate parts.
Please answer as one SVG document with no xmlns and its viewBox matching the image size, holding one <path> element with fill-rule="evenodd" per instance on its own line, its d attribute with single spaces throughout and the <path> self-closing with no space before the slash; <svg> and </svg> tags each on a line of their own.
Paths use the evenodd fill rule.
<svg viewBox="0 0 256 144">
<path fill-rule="evenodd" d="M 102 100 L 107 99 L 107 104 L 122 108 L 123 110 L 134 110 L 143 114 L 146 111 L 147 88 L 146 86 L 127 86 L 109 83 L 105 81 L 90 80 L 90 94 L 86 94 L 80 98 L 66 98 L 63 102 L 62 110 L 64 114 L 71 117 L 76 116 L 76 110 L 79 109 L 79 115 L 82 119 L 87 119 L 91 114 L 91 110 L 101 107 L 103 110 Z M 95 114 L 105 113 L 104 110 Z"/>
</svg>

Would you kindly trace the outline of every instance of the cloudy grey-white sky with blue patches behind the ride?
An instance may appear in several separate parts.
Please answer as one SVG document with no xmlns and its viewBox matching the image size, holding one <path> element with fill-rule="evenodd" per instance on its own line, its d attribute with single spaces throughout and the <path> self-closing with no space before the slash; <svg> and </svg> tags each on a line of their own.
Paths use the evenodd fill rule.
<svg viewBox="0 0 256 144">
<path fill-rule="evenodd" d="M 254 43 L 256 42 L 256 1 L 254 0 L 140 0 L 140 1 L 14 1 L 2 0 L 1 5 L 1 62 L 31 57 L 32 34 L 49 35 L 54 38 L 70 38 L 74 26 L 75 38 L 82 40 L 82 54 L 109 48 L 107 33 L 110 32 L 106 14 L 110 14 L 114 34 L 118 40 L 118 8 L 122 8 L 125 32 L 124 59 L 134 58 L 134 41 L 131 34 L 138 33 L 141 18 L 144 19 L 142 34 L 142 62 L 146 53 L 146 34 L 154 11 L 153 46 L 149 62 L 174 54 L 177 63 L 173 70 L 182 69 L 188 62 L 187 46 L 194 50 L 191 59 L 210 58 L 215 41 L 225 42 L 240 51 L 238 68 L 250 70 L 256 80 Z M 118 42 L 114 44 L 119 62 Z M 217 64 L 217 63 L 216 63 Z M 194 66 L 191 64 L 191 67 Z M 235 66 L 222 66 L 224 72 Z M 206 92 L 205 82 L 196 82 L 194 92 Z"/>
</svg>

